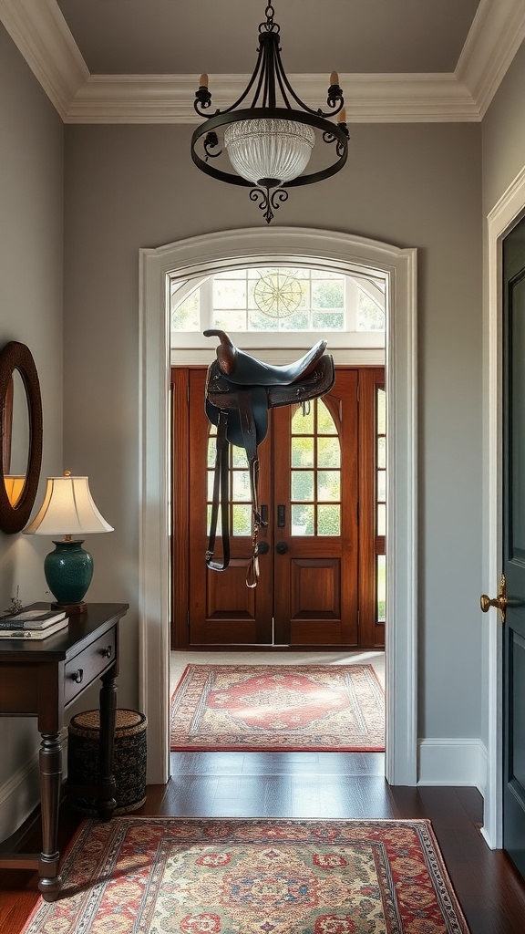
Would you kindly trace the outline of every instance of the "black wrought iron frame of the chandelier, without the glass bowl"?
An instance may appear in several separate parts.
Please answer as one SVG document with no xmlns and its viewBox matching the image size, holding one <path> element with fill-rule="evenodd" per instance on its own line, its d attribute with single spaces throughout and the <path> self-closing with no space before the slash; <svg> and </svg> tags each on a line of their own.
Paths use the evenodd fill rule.
<svg viewBox="0 0 525 934">
<path fill-rule="evenodd" d="M 290 188 L 299 188 L 304 185 L 315 184 L 325 178 L 332 177 L 339 172 L 348 158 L 348 126 L 344 110 L 345 100 L 339 87 L 339 79 L 335 72 L 331 75 L 331 84 L 328 88 L 327 105 L 330 111 L 320 107 L 314 110 L 293 91 L 291 83 L 280 58 L 280 27 L 274 20 L 274 7 L 265 8 L 266 21 L 259 24 L 259 49 L 257 63 L 248 85 L 240 97 L 229 107 L 217 109 L 212 117 L 202 123 L 192 134 L 192 160 L 193 163 L 206 175 L 217 178 L 230 185 L 239 185 L 250 188 L 249 197 L 252 201 L 260 201 L 259 206 L 264 211 L 267 223 L 274 217 L 272 208 L 277 209 L 279 204 L 288 199 Z M 251 106 L 241 107 L 249 93 L 254 89 Z M 277 96 L 280 94 L 279 106 Z M 300 107 L 291 105 L 291 100 Z M 207 76 L 202 75 L 199 88 L 195 92 L 195 112 L 199 117 L 206 117 L 211 106 L 211 93 L 207 87 Z M 328 118 L 339 115 L 337 122 Z M 234 172 L 226 172 L 215 165 L 214 160 L 222 154 L 219 149 L 219 135 L 221 127 L 226 127 L 241 120 L 285 120 L 298 122 L 319 130 L 324 143 L 333 144 L 334 160 L 330 165 L 310 173 L 302 174 L 276 186 L 262 187 L 254 184 Z M 202 155 L 196 147 L 202 147 Z"/>
</svg>

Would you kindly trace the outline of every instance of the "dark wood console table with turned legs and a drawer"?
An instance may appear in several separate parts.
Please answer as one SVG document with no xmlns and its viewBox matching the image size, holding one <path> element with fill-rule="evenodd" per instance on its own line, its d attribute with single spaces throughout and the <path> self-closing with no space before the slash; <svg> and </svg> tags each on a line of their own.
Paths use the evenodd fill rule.
<svg viewBox="0 0 525 934">
<path fill-rule="evenodd" d="M 100 678 L 100 785 L 69 788 L 91 790 L 98 814 L 109 820 L 116 806 L 113 746 L 119 673 L 119 620 L 127 603 L 88 603 L 69 617 L 69 625 L 38 642 L 0 640 L 0 716 L 36 716 L 40 743 L 40 807 L 42 852 L 5 854 L 0 868 L 37 869 L 38 888 L 46 901 L 57 898 L 62 883 L 58 845 L 58 813 L 62 790 L 64 712 Z"/>
</svg>

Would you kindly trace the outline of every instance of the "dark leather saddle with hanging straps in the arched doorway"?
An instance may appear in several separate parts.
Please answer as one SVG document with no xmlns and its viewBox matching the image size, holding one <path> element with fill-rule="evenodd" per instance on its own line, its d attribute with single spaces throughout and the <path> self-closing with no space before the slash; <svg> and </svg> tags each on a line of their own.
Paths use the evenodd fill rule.
<svg viewBox="0 0 525 934">
<path fill-rule="evenodd" d="M 228 446 L 243 447 L 249 469 L 252 502 L 252 557 L 247 585 L 256 587 L 259 577 L 259 531 L 267 525 L 259 509 L 259 459 L 257 448 L 268 432 L 268 409 L 279 405 L 306 403 L 333 387 L 333 357 L 325 354 L 326 341 L 319 340 L 304 357 L 286 366 L 272 366 L 234 346 L 227 333 L 204 332 L 217 336 L 217 359 L 206 375 L 206 416 L 217 425 L 217 449 L 209 542 L 206 564 L 212 571 L 224 571 L 230 562 L 230 508 L 228 488 Z M 217 520 L 222 537 L 222 561 L 214 561 Z"/>
</svg>

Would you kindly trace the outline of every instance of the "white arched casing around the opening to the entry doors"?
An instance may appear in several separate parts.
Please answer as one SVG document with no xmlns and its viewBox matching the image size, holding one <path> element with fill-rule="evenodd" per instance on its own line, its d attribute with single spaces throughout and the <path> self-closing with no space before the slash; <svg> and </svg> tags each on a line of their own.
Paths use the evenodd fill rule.
<svg viewBox="0 0 525 934">
<path fill-rule="evenodd" d="M 169 778 L 169 301 L 167 276 L 228 264 L 315 264 L 387 278 L 386 778 L 417 783 L 417 256 L 348 233 L 278 227 L 209 233 L 140 250 L 140 709 L 148 716 L 148 783 Z M 184 545 L 183 545 L 184 546 Z"/>
</svg>

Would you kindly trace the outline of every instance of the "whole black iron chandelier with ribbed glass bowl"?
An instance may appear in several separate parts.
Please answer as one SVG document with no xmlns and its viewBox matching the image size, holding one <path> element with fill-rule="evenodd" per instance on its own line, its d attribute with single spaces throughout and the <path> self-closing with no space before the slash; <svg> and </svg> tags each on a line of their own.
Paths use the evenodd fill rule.
<svg viewBox="0 0 525 934">
<path fill-rule="evenodd" d="M 265 17 L 259 25 L 258 58 L 247 88 L 232 106 L 216 110 L 195 130 L 192 160 L 206 175 L 251 188 L 249 198 L 270 223 L 277 208 L 288 200 L 288 189 L 312 185 L 343 168 L 348 156 L 348 127 L 337 73 L 330 76 L 326 101 L 331 112 L 305 105 L 293 91 L 281 63 L 274 7 L 266 7 Z M 206 117 L 211 106 L 207 75 L 201 75 L 193 106 L 199 117 Z M 327 120 L 335 116 L 337 122 Z M 322 168 L 318 164 L 308 173 L 319 136 L 327 144 L 323 155 L 330 156 L 330 162 Z M 228 171 L 230 168 L 234 172 Z"/>
</svg>

